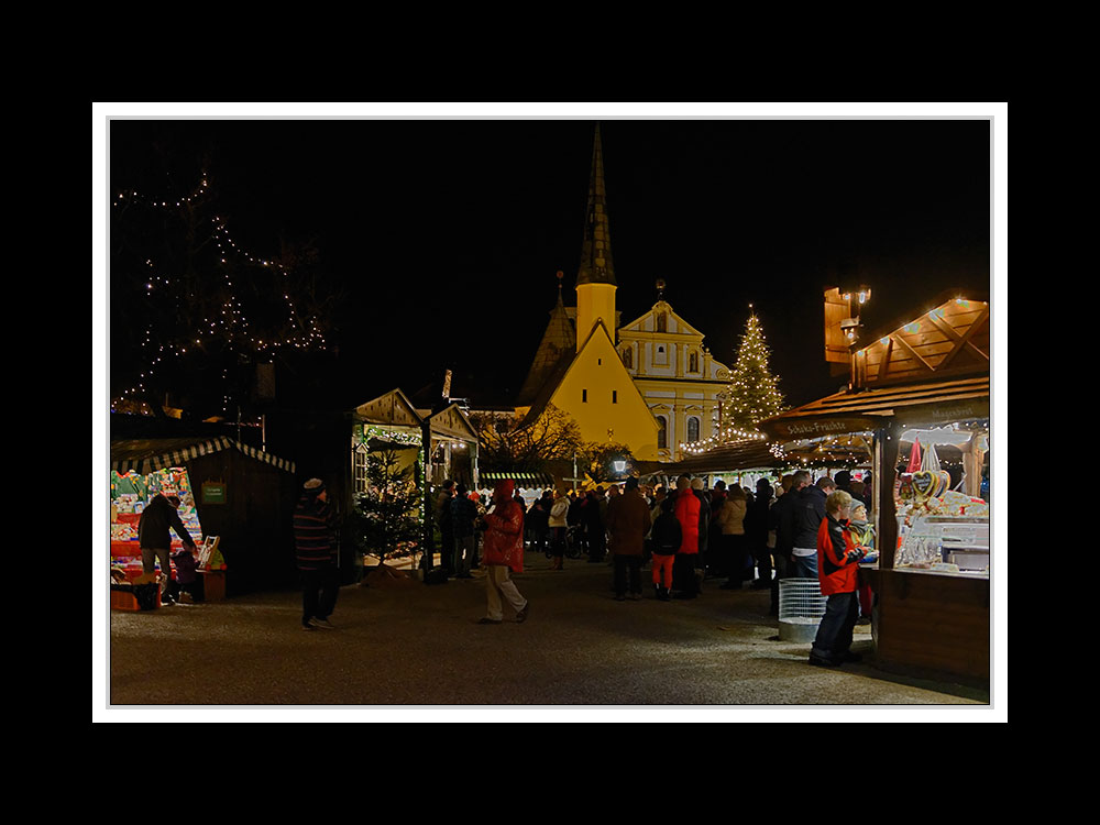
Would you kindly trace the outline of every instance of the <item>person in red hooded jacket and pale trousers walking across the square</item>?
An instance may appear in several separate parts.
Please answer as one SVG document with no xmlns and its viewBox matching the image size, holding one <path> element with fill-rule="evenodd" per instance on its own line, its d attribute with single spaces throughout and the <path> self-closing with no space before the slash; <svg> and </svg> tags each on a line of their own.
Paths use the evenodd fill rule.
<svg viewBox="0 0 1100 825">
<path fill-rule="evenodd" d="M 524 571 L 524 508 L 513 497 L 515 482 L 497 482 L 493 491 L 493 512 L 482 519 L 485 541 L 482 546 L 482 566 L 485 568 L 485 592 L 488 610 L 481 625 L 499 625 L 504 619 L 502 597 L 516 612 L 516 622 L 527 619 L 530 602 L 519 593 L 510 573 Z"/>
</svg>

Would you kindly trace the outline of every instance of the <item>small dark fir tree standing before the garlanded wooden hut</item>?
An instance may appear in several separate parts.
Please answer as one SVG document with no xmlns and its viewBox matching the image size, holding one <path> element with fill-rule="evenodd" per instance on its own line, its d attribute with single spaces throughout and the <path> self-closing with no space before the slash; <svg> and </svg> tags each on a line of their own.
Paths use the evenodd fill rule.
<svg viewBox="0 0 1100 825">
<path fill-rule="evenodd" d="M 397 451 L 383 449 L 371 455 L 366 493 L 356 496 L 352 516 L 355 539 L 364 556 L 377 557 L 380 568 L 389 559 L 413 556 L 420 546 L 424 525 L 420 490 L 413 466 L 400 466 Z"/>
</svg>

